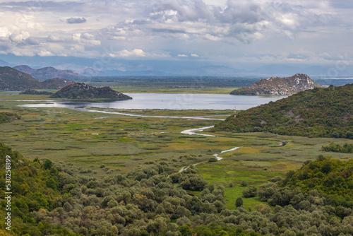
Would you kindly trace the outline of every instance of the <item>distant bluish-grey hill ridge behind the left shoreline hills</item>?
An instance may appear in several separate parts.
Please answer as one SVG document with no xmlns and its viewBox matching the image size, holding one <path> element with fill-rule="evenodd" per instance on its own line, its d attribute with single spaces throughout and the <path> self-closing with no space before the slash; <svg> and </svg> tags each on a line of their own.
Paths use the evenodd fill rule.
<svg viewBox="0 0 353 236">
<path fill-rule="evenodd" d="M 21 65 L 21 66 L 15 66 L 13 68 L 18 71 L 28 73 L 33 78 L 37 78 L 37 80 L 40 80 L 40 81 L 50 79 L 50 78 L 58 78 L 58 77 L 71 79 L 71 80 L 78 80 L 78 79 L 85 78 L 85 76 L 82 76 L 73 71 L 70 71 L 70 70 L 59 71 L 52 66 L 44 67 L 42 69 L 32 69 L 30 66 Z"/>
</svg>

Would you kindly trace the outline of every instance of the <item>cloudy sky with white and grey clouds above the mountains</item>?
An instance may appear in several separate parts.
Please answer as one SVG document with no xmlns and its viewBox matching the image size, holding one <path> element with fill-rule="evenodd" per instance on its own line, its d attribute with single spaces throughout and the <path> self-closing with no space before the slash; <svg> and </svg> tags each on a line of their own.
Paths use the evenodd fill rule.
<svg viewBox="0 0 353 236">
<path fill-rule="evenodd" d="M 352 64 L 353 1 L 1 1 L 0 59 Z"/>
</svg>

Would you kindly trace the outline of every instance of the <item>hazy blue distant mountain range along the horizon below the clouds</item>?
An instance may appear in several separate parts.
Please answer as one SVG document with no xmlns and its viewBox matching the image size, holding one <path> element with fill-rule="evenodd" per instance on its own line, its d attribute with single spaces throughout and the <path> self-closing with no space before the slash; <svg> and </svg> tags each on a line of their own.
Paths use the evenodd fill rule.
<svg viewBox="0 0 353 236">
<path fill-rule="evenodd" d="M 6 57 L 3 57 L 6 58 Z M 77 58 L 77 57 L 9 57 L 11 63 L 0 59 L 0 66 L 15 66 L 16 69 L 30 73 L 42 81 L 47 78 L 66 78 L 84 81 L 82 76 L 241 76 L 270 77 L 289 76 L 306 73 L 311 78 L 339 78 L 353 76 L 353 65 L 342 64 L 251 64 L 227 66 L 199 59 L 193 60 L 126 60 Z M 18 61 L 17 63 L 14 61 Z M 98 62 L 98 63 L 97 63 Z M 16 66 L 28 64 L 29 66 Z M 99 65 L 99 66 L 97 66 Z M 44 67 L 49 66 L 49 67 Z M 54 67 L 52 67 L 54 66 Z M 28 68 L 29 67 L 29 68 Z M 44 67 L 44 68 L 42 68 Z M 32 69 L 40 68 L 40 69 Z"/>
</svg>

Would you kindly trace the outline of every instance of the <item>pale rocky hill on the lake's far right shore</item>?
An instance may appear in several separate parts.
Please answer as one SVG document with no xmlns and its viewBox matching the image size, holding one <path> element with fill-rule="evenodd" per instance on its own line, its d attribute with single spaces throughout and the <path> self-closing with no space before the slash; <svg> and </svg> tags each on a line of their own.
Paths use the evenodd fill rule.
<svg viewBox="0 0 353 236">
<path fill-rule="evenodd" d="M 300 91 L 320 88 L 321 85 L 313 81 L 304 73 L 297 73 L 291 77 L 263 78 L 250 86 L 233 90 L 232 95 L 292 95 Z"/>
</svg>

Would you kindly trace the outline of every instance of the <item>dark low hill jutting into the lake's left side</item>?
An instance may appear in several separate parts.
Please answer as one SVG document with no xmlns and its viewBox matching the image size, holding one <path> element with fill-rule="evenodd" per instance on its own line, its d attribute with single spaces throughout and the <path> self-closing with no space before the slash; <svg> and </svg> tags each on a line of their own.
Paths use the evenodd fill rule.
<svg viewBox="0 0 353 236">
<path fill-rule="evenodd" d="M 93 99 L 93 98 L 106 98 L 110 100 L 128 100 L 132 99 L 128 95 L 116 92 L 108 86 L 97 88 L 85 83 L 73 83 L 61 88 L 50 98 L 69 98 L 69 99 Z"/>
</svg>

